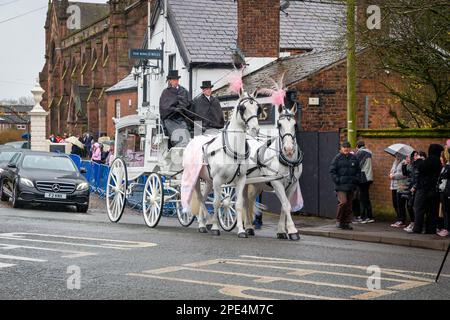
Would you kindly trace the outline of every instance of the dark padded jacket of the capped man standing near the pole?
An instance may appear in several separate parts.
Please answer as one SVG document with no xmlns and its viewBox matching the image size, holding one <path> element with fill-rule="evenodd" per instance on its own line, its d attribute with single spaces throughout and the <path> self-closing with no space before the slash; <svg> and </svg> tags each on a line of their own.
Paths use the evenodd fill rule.
<svg viewBox="0 0 450 320">
<path fill-rule="evenodd" d="M 358 159 L 351 153 L 339 153 L 331 162 L 330 175 L 336 191 L 353 191 L 361 179 Z"/>
</svg>

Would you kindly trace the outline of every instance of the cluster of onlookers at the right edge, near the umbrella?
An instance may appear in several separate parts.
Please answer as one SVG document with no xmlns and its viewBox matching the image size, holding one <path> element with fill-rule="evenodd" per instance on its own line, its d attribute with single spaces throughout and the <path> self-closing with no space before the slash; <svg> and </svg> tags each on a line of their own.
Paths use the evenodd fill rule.
<svg viewBox="0 0 450 320">
<path fill-rule="evenodd" d="M 396 155 L 389 175 L 397 214 L 391 227 L 404 228 L 409 233 L 449 235 L 449 150 L 450 140 L 445 146 L 430 145 L 428 154 L 413 151 L 406 157 Z"/>
</svg>

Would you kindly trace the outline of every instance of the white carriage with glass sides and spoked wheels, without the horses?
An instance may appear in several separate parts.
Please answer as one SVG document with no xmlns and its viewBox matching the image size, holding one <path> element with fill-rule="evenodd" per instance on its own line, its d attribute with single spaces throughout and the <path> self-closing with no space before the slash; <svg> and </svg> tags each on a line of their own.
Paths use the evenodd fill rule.
<svg viewBox="0 0 450 320">
<path fill-rule="evenodd" d="M 181 225 L 188 227 L 195 216 L 183 212 L 180 183 L 184 148 L 169 149 L 157 108 L 145 114 L 116 120 L 116 158 L 111 165 L 106 186 L 106 209 L 112 222 L 119 222 L 127 199 L 142 193 L 142 211 L 147 226 L 154 228 L 164 209 L 175 211 Z M 143 189 L 142 189 L 143 187 Z M 224 186 L 220 224 L 226 231 L 236 226 L 232 186 Z"/>
</svg>

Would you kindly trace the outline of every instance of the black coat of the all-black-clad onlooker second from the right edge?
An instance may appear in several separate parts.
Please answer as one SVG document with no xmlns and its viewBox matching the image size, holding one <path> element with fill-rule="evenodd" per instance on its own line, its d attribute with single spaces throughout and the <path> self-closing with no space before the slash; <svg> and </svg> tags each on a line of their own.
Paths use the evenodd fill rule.
<svg viewBox="0 0 450 320">
<path fill-rule="evenodd" d="M 428 158 L 417 161 L 415 171 L 415 187 L 417 190 L 425 192 L 437 192 L 437 183 L 441 174 L 441 152 L 444 150 L 441 145 L 432 144 L 428 149 Z"/>
</svg>

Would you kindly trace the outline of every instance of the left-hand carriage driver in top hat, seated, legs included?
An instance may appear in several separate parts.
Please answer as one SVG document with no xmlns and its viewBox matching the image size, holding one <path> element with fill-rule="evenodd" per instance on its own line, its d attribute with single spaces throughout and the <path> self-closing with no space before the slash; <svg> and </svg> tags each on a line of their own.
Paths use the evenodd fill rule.
<svg viewBox="0 0 450 320">
<path fill-rule="evenodd" d="M 184 110 L 190 106 L 188 91 L 180 86 L 178 70 L 170 70 L 167 76 L 169 86 L 159 99 L 159 113 L 173 147 L 185 147 L 190 140 L 187 115 Z"/>
</svg>

